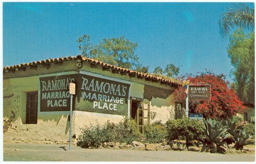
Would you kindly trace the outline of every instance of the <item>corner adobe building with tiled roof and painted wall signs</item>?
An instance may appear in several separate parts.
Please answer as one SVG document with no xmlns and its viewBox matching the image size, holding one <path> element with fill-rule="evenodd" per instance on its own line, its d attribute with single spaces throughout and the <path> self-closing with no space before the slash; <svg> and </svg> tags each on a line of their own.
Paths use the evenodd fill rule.
<svg viewBox="0 0 256 164">
<path fill-rule="evenodd" d="M 69 84 L 75 83 L 72 136 L 91 123 L 143 122 L 181 118 L 181 105 L 171 105 L 176 79 L 77 57 L 48 59 L 3 68 L 4 142 L 68 142 Z M 152 117 L 155 115 L 155 118 Z"/>
</svg>

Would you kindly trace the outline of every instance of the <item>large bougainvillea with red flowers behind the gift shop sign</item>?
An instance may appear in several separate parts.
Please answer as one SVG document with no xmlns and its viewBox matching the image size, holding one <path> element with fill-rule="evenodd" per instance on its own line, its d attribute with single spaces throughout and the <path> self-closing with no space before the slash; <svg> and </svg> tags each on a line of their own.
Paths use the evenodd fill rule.
<svg viewBox="0 0 256 164">
<path fill-rule="evenodd" d="M 198 72 L 199 73 L 199 72 Z M 189 101 L 190 113 L 201 113 L 204 118 L 232 118 L 237 113 L 244 113 L 245 106 L 239 100 L 236 93 L 229 89 L 228 81 L 223 74 L 200 73 L 196 76 L 188 76 L 189 84 L 207 83 L 211 85 L 210 101 Z M 185 89 L 179 87 L 174 92 L 174 102 L 185 102 Z"/>
</svg>

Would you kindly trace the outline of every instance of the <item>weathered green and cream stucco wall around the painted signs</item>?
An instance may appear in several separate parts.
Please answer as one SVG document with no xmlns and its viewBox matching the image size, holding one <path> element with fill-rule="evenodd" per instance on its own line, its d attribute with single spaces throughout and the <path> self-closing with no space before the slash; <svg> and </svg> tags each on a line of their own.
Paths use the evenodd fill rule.
<svg viewBox="0 0 256 164">
<path fill-rule="evenodd" d="M 63 142 L 69 141 L 69 124 L 68 115 L 69 111 L 64 112 L 40 112 L 38 110 L 37 124 L 26 124 L 26 92 L 38 91 L 38 75 L 39 74 L 62 74 L 62 71 L 79 72 L 76 68 L 75 61 L 67 61 L 68 66 L 65 64 L 55 65 L 51 64 L 50 69 L 39 67 L 37 70 L 16 71 L 15 78 L 13 74 L 5 74 L 3 80 L 4 89 L 4 111 L 3 119 L 9 121 L 11 124 L 7 132 L 4 133 L 4 142 Z M 130 77 L 129 75 L 121 75 L 119 73 L 112 73 L 111 71 L 103 71 L 100 68 L 92 68 L 90 64 L 84 64 L 81 71 L 89 71 L 97 75 L 108 76 L 120 80 L 126 80 L 131 83 L 130 97 L 143 98 L 144 101 L 150 101 L 150 111 L 156 112 L 156 117 L 153 121 L 161 120 L 163 123 L 168 119 L 174 119 L 174 106 L 170 105 L 172 102 L 171 97 L 159 98 L 152 97 L 151 100 L 144 98 L 144 87 L 150 85 L 156 89 L 152 92 L 158 92 L 158 89 L 174 90 L 166 85 L 159 83 L 152 83 L 139 79 L 137 77 Z M 39 72 L 39 73 L 38 73 Z M 58 73 L 56 73 L 58 72 Z M 27 75 L 31 75 L 25 77 Z M 38 75 L 35 75 L 38 74 Z M 127 113 L 130 114 L 130 108 Z M 91 123 L 104 124 L 106 121 L 118 123 L 124 116 L 90 113 L 74 111 L 72 119 L 72 135 L 78 135 L 80 128 Z"/>
</svg>

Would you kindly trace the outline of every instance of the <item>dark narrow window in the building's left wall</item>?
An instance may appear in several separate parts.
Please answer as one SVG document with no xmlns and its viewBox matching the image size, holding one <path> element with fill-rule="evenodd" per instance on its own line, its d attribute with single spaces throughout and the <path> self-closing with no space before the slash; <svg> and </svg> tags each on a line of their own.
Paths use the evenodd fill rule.
<svg viewBox="0 0 256 164">
<path fill-rule="evenodd" d="M 27 93 L 26 124 L 37 124 L 38 92 Z"/>
</svg>

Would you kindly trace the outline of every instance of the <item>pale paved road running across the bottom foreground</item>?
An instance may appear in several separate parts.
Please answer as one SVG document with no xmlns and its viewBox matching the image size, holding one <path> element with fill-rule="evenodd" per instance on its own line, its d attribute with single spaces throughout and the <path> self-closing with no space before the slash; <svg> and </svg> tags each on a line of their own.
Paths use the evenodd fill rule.
<svg viewBox="0 0 256 164">
<path fill-rule="evenodd" d="M 21 143 L 4 143 L 3 153 L 4 161 L 255 161 L 253 153 L 82 149 L 76 146 L 69 151 L 69 145 Z"/>
</svg>

